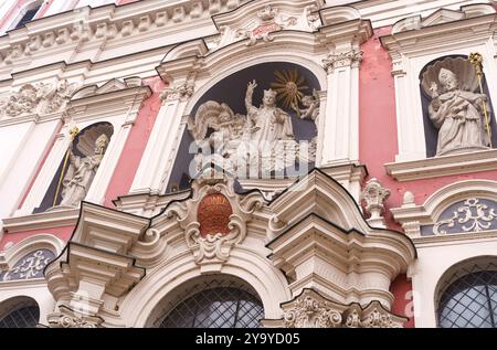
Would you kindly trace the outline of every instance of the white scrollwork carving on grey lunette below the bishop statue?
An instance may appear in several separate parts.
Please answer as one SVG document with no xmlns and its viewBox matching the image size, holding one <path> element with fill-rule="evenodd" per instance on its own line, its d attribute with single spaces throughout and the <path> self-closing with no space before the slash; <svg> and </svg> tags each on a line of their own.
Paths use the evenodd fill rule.
<svg viewBox="0 0 497 350">
<path fill-rule="evenodd" d="M 457 208 L 452 218 L 435 223 L 433 233 L 443 235 L 456 232 L 482 232 L 490 230 L 493 223 L 497 223 L 495 208 L 489 209 L 487 204 L 480 203 L 479 199 L 469 198 L 464 201 L 464 205 Z"/>
</svg>

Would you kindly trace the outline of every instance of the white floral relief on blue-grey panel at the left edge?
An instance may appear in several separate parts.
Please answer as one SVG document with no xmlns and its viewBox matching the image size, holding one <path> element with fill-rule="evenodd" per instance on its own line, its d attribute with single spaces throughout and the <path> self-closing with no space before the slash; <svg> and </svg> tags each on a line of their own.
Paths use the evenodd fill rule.
<svg viewBox="0 0 497 350">
<path fill-rule="evenodd" d="M 39 250 L 25 255 L 15 265 L 0 273 L 0 282 L 43 277 L 43 268 L 55 257 L 49 250 Z"/>
</svg>

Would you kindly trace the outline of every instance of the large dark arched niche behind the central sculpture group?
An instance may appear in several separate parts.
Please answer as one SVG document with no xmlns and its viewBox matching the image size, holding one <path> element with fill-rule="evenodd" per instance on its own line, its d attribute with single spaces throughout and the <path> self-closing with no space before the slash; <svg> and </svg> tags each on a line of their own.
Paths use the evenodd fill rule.
<svg viewBox="0 0 497 350">
<path fill-rule="evenodd" d="M 298 108 L 296 108 L 299 110 L 296 110 L 295 108 L 288 106 L 288 104 L 284 103 L 283 95 L 281 94 L 277 96 L 276 106 L 288 114 L 295 141 L 307 141 L 310 145 L 309 147 L 314 147 L 313 145 L 315 144 L 313 144 L 313 141 L 316 142 L 317 139 L 318 119 L 316 116 L 319 113 L 319 98 L 316 94 L 321 89 L 316 75 L 308 68 L 289 62 L 266 62 L 255 64 L 226 76 L 222 81 L 214 84 L 198 100 L 195 100 L 194 106 L 189 113 L 189 125 L 184 129 L 181 141 L 178 146 L 176 160 L 173 162 L 166 192 L 188 189 L 192 173 L 195 173 L 195 171 L 190 168 L 194 159 L 194 155 L 198 151 L 197 147 L 192 147 L 192 145 L 194 145 L 192 128 L 195 128 L 195 124 L 198 125 L 199 120 L 197 118 L 199 117 L 199 112 L 202 106 L 205 106 L 208 102 L 216 102 L 219 106 L 229 106 L 230 113 L 232 112 L 234 116 L 240 115 L 241 117 L 239 120 L 246 121 L 247 110 L 245 106 L 245 95 L 247 84 L 252 81 L 256 81 L 257 87 L 254 91 L 252 103 L 255 107 L 260 107 L 264 97 L 264 91 L 269 88 L 276 89 L 277 86 L 274 84 L 278 83 L 286 86 L 287 82 L 294 79 L 295 75 L 292 74 L 297 76 L 295 81 L 298 83 L 298 91 L 300 93 L 299 96 L 308 96 L 307 98 L 311 98 L 314 102 L 317 102 L 315 108 L 313 109 L 315 112 L 314 117 L 310 115 L 304 117 L 305 110 L 308 110 L 307 107 L 300 102 L 298 104 Z M 282 98 L 279 98 L 279 96 L 282 96 Z M 207 128 L 207 132 L 204 132 L 205 138 L 209 138 L 214 131 L 218 130 L 219 129 L 216 127 Z M 211 151 L 213 150 L 211 149 Z M 311 162 L 314 162 L 314 160 L 307 163 Z M 296 165 L 296 168 L 299 168 L 298 165 Z"/>
</svg>

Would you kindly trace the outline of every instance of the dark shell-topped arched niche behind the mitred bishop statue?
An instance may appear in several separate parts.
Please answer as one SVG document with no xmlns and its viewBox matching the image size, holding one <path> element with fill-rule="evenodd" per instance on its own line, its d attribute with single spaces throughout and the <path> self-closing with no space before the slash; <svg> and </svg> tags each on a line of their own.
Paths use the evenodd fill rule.
<svg viewBox="0 0 497 350">
<path fill-rule="evenodd" d="M 435 126 L 435 124 L 432 121 L 432 118 L 430 116 L 430 105 L 433 100 L 433 97 L 431 96 L 431 84 L 432 82 L 435 83 L 438 86 L 438 93 L 440 95 L 443 95 L 445 91 L 442 87 L 442 84 L 438 81 L 438 75 L 441 70 L 448 70 L 453 72 L 458 81 L 459 86 L 458 88 L 463 92 L 469 92 L 479 94 L 479 84 L 476 75 L 476 71 L 472 63 L 469 62 L 469 59 L 467 55 L 448 55 L 438 57 L 436 60 L 431 61 L 429 64 L 426 64 L 423 70 L 420 73 L 420 89 L 421 89 L 421 102 L 422 102 L 422 108 L 423 108 L 423 125 L 424 125 L 424 135 L 425 135 L 425 144 L 426 144 L 426 157 L 435 157 L 435 156 L 446 156 L 446 155 L 453 155 L 453 153 L 462 153 L 462 152 L 470 152 L 470 151 L 477 151 L 479 149 L 485 149 L 485 147 L 478 148 L 478 147 L 468 147 L 466 149 L 461 148 L 456 150 L 450 150 L 450 151 L 437 151 L 437 145 L 438 145 L 438 138 L 440 138 L 440 128 L 441 126 Z M 483 92 L 485 95 L 488 96 L 488 123 L 490 125 L 491 130 L 491 145 L 497 144 L 497 126 L 495 123 L 495 116 L 494 116 L 494 108 L 490 100 L 490 94 L 488 91 L 487 82 L 485 78 L 485 75 L 483 75 L 482 78 L 482 86 Z M 475 105 L 479 105 L 478 103 L 475 103 Z M 482 126 L 485 125 L 485 118 L 482 117 Z M 486 134 L 486 132 L 483 132 Z M 482 137 L 485 137 L 483 135 Z"/>
</svg>

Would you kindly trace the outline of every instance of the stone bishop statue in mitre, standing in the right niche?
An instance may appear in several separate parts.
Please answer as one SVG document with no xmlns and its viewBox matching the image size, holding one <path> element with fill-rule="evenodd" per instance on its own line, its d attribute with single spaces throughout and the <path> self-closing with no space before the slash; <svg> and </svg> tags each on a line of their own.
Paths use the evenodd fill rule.
<svg viewBox="0 0 497 350">
<path fill-rule="evenodd" d="M 430 119 L 438 130 L 436 156 L 486 149 L 489 140 L 485 129 L 483 104 L 487 96 L 459 88 L 457 76 L 441 68 L 438 81 L 443 92 L 432 82 Z M 487 107 L 489 110 L 489 107 Z"/>
</svg>

